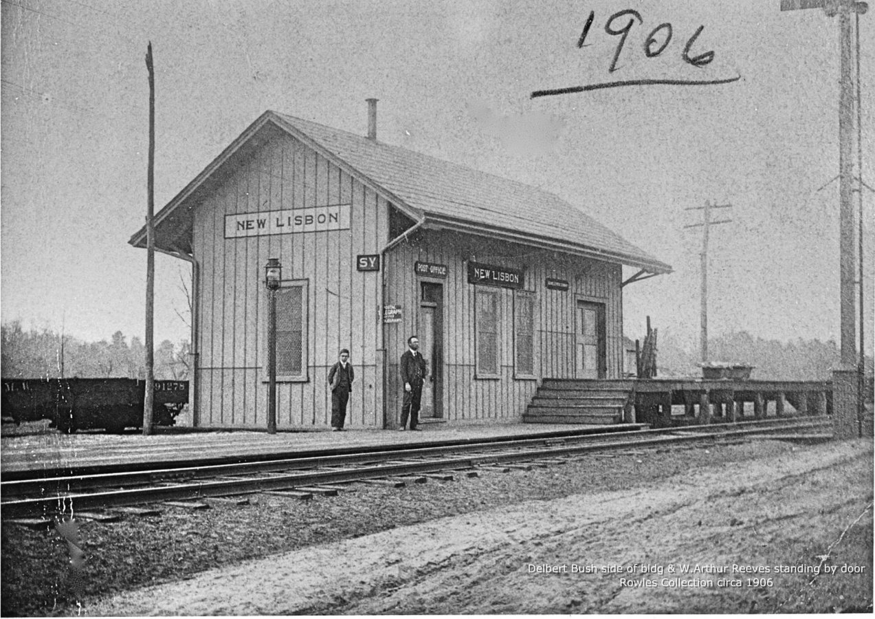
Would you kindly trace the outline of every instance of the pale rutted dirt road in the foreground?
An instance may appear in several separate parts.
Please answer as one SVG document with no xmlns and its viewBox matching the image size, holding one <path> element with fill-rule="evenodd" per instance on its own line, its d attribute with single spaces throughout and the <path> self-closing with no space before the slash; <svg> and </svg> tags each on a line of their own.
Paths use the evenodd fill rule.
<svg viewBox="0 0 875 619">
<path fill-rule="evenodd" d="M 83 611 L 746 613 L 871 603 L 872 442 L 861 440 L 311 546 Z"/>
</svg>

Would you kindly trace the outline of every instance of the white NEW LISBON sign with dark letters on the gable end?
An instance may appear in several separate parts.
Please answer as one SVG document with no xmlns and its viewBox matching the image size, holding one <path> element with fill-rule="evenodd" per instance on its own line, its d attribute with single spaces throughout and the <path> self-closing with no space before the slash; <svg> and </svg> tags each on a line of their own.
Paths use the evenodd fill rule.
<svg viewBox="0 0 875 619">
<path fill-rule="evenodd" d="M 225 238 L 349 229 L 349 204 L 225 215 Z"/>
</svg>

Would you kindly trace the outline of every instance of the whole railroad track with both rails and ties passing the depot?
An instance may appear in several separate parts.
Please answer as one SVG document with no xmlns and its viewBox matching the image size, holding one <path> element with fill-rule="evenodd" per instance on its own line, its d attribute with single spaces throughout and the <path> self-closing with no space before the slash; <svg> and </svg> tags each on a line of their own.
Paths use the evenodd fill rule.
<svg viewBox="0 0 875 619">
<path fill-rule="evenodd" d="M 528 468 L 559 464 L 570 457 L 702 441 L 744 440 L 767 434 L 817 433 L 831 430 L 831 419 L 767 419 L 737 424 L 685 426 L 624 433 L 568 433 L 562 436 L 465 441 L 381 447 L 373 451 L 272 458 L 206 465 L 170 465 L 151 470 L 114 470 L 87 475 L 40 475 L 0 481 L 0 513 L 7 518 L 70 517 L 75 513 L 136 505 L 177 502 L 195 506 L 206 498 L 252 493 L 282 493 L 307 498 L 336 495 L 352 482 L 402 486 L 429 477 L 449 481 L 499 467 Z M 41 473 L 41 472 L 35 472 Z M 19 475 L 20 477 L 20 475 Z"/>
</svg>

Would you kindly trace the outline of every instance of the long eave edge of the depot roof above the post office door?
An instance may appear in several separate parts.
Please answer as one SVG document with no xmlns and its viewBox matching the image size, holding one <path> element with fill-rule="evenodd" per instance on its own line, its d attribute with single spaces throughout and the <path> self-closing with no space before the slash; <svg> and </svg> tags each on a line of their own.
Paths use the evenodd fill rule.
<svg viewBox="0 0 875 619">
<path fill-rule="evenodd" d="M 629 256 L 619 252 L 599 250 L 598 248 L 592 248 L 582 244 L 559 241 L 544 236 L 519 232 L 517 230 L 501 229 L 487 224 L 467 222 L 465 220 L 456 220 L 437 215 L 426 214 L 423 228 L 448 229 L 456 230 L 458 232 L 467 232 L 473 235 L 487 235 L 505 241 L 540 247 L 545 250 L 563 251 L 565 253 L 574 254 L 575 256 L 632 266 L 655 275 L 665 275 L 674 271 L 669 264 L 662 263 L 658 260 L 646 260 L 641 257 Z"/>
</svg>

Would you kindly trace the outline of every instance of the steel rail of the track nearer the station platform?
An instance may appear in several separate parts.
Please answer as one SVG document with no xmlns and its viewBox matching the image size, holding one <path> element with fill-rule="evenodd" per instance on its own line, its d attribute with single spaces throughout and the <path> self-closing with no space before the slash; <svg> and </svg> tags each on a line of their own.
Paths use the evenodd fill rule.
<svg viewBox="0 0 875 619">
<path fill-rule="evenodd" d="M 320 468 L 325 466 L 348 466 L 374 461 L 387 461 L 403 457 L 424 457 L 465 452 L 505 450 L 508 447 L 532 449 L 542 445 L 578 444 L 598 441 L 645 440 L 652 436 L 671 435 L 677 432 L 713 433 L 725 432 L 732 428 L 758 428 L 761 432 L 783 432 L 829 423 L 828 418 L 790 418 L 767 419 L 737 424 L 713 424 L 710 426 L 683 426 L 656 430 L 641 430 L 630 433 L 589 433 L 566 435 L 563 437 L 536 437 L 527 439 L 512 438 L 504 441 L 488 440 L 440 445 L 437 447 L 395 446 L 395 449 L 363 452 L 355 454 L 332 454 L 320 456 L 292 457 L 283 460 L 245 461 L 229 464 L 208 464 L 155 468 L 137 471 L 98 473 L 94 475 L 67 475 L 25 480 L 0 481 L 0 496 L 44 496 L 47 491 L 84 491 L 98 488 L 118 488 L 158 482 L 186 482 L 220 475 L 253 475 L 290 469 Z M 5 503 L 0 503 L 3 505 Z"/>
</svg>

